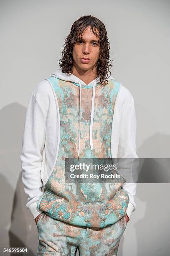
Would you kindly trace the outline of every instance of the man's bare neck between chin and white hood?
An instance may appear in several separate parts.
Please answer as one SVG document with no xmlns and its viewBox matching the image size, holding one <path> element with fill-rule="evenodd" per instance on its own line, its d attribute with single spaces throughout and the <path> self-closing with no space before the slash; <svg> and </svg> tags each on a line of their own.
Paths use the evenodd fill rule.
<svg viewBox="0 0 170 256">
<path fill-rule="evenodd" d="M 96 69 L 95 70 L 81 70 L 78 67 L 73 66 L 72 74 L 79 77 L 85 84 L 89 84 L 91 81 L 96 79 Z"/>
</svg>

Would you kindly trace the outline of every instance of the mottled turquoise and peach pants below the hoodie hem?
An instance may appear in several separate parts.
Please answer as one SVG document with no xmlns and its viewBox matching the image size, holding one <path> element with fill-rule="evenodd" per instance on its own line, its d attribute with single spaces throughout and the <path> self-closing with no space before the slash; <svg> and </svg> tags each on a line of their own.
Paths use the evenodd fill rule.
<svg viewBox="0 0 170 256">
<path fill-rule="evenodd" d="M 126 228 L 125 216 L 105 228 L 88 228 L 56 220 L 42 212 L 37 223 L 37 256 L 117 256 Z"/>
</svg>

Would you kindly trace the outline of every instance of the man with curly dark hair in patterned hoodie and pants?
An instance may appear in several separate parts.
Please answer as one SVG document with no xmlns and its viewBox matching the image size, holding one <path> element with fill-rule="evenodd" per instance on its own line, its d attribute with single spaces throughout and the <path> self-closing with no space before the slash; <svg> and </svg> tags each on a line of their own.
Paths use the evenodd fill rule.
<svg viewBox="0 0 170 256">
<path fill-rule="evenodd" d="M 20 155 L 37 255 L 117 255 L 136 184 L 67 184 L 65 159 L 137 158 L 134 100 L 108 77 L 110 44 L 99 19 L 76 20 L 65 44 L 60 69 L 31 93 Z"/>
</svg>

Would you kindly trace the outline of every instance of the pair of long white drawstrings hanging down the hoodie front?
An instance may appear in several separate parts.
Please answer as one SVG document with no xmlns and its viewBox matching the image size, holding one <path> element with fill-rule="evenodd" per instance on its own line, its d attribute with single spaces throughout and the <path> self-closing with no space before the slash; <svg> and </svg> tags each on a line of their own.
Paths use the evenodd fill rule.
<svg viewBox="0 0 170 256">
<path fill-rule="evenodd" d="M 78 159 L 80 156 L 80 122 L 81 122 L 81 83 L 79 82 L 80 88 L 80 104 L 79 104 L 79 148 L 78 148 Z M 96 89 L 96 82 L 93 83 L 93 96 L 92 96 L 92 103 L 91 103 L 91 120 L 90 120 L 90 148 L 91 154 L 93 152 L 93 117 L 94 117 L 94 99 L 95 99 L 95 89 Z"/>
</svg>

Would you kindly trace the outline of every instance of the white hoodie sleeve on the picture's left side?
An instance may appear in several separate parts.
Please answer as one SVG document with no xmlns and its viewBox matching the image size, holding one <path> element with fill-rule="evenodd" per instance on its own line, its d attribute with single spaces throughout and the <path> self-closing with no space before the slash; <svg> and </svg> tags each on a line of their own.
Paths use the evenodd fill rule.
<svg viewBox="0 0 170 256">
<path fill-rule="evenodd" d="M 43 195 L 41 180 L 42 151 L 46 137 L 46 114 L 34 92 L 31 92 L 25 117 L 20 161 L 24 191 L 28 195 L 26 207 L 34 219 L 41 213 L 36 204 Z"/>
</svg>

